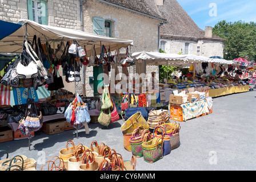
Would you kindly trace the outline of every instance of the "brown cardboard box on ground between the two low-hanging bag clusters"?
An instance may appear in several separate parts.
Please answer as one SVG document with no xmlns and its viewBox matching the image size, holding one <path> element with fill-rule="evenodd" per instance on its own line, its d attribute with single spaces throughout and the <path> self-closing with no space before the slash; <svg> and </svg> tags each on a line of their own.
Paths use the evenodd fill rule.
<svg viewBox="0 0 256 182">
<path fill-rule="evenodd" d="M 43 133 L 52 135 L 65 131 L 65 121 L 47 121 L 42 126 Z"/>
</svg>

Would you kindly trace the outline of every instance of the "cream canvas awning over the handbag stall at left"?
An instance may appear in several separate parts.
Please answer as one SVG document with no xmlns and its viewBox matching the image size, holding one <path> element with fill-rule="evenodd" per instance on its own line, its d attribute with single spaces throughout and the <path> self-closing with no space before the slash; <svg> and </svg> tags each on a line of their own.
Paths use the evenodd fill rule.
<svg viewBox="0 0 256 182">
<path fill-rule="evenodd" d="M 21 52 L 26 31 L 29 40 L 32 41 L 33 36 L 37 35 L 37 38 L 41 38 L 41 43 L 45 43 L 47 40 L 52 48 L 57 48 L 57 44 L 62 40 L 64 43 L 67 41 L 73 43 L 73 40 L 77 40 L 82 47 L 86 45 L 88 56 L 90 56 L 93 44 L 95 45 L 97 54 L 101 52 L 102 45 L 107 50 L 110 47 L 110 51 L 114 51 L 117 48 L 133 46 L 133 40 L 115 39 L 69 28 L 47 26 L 28 19 L 21 19 L 18 23 L 22 24 L 21 28 L 0 40 L 0 52 Z M 0 31 L 5 31 L 5 27 L 0 27 Z"/>
</svg>

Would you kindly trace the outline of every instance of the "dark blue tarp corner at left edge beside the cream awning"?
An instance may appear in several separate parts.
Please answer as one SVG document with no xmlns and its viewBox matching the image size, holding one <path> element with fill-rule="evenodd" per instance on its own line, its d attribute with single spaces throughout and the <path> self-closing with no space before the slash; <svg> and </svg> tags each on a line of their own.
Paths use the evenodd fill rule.
<svg viewBox="0 0 256 182">
<path fill-rule="evenodd" d="M 13 32 L 17 31 L 21 28 L 22 24 L 10 23 L 0 20 L 0 40 L 5 38 L 8 35 L 13 34 Z"/>
</svg>

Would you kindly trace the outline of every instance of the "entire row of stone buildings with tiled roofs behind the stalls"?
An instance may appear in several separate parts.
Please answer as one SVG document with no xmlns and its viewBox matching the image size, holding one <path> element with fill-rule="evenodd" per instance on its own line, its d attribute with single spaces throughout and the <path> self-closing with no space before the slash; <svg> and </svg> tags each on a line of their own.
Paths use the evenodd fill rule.
<svg viewBox="0 0 256 182">
<path fill-rule="evenodd" d="M 16 23 L 19 19 L 130 39 L 134 42 L 130 53 L 162 48 L 170 53 L 223 56 L 223 39 L 208 36 L 176 0 L 1 0 L 0 20 Z M 145 63 L 137 63 L 135 68 L 158 73 L 157 66 L 146 67 Z M 89 84 L 93 72 L 93 67 L 86 67 L 81 82 L 75 86 L 64 81 L 65 88 L 81 94 L 86 90 L 86 96 L 93 96 L 95 88 Z"/>
</svg>

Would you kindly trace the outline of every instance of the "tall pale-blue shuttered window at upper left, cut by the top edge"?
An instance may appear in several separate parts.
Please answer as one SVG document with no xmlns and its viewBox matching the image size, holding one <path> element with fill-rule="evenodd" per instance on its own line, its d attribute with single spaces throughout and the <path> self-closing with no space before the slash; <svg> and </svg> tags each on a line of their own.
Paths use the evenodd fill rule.
<svg viewBox="0 0 256 182">
<path fill-rule="evenodd" d="M 27 0 L 27 14 L 30 20 L 47 25 L 46 1 Z"/>
</svg>

